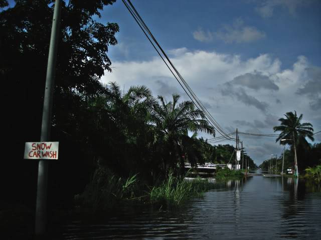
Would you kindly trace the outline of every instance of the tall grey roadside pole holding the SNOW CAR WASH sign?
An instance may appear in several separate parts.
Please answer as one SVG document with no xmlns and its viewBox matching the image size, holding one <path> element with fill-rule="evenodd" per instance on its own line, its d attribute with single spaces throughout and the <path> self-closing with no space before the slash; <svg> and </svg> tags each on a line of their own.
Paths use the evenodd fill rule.
<svg viewBox="0 0 321 240">
<path fill-rule="evenodd" d="M 46 86 L 44 96 L 44 108 L 41 125 L 41 141 L 50 140 L 50 130 L 52 121 L 52 102 L 54 91 L 54 80 L 56 70 L 56 58 L 58 47 L 58 36 L 61 15 L 61 1 L 55 1 L 55 9 L 52 20 L 49 55 L 47 63 Z M 39 160 L 38 163 L 38 185 L 37 185 L 37 200 L 36 200 L 36 236 L 46 233 L 47 223 L 47 182 L 48 182 L 48 161 L 46 159 Z"/>
</svg>

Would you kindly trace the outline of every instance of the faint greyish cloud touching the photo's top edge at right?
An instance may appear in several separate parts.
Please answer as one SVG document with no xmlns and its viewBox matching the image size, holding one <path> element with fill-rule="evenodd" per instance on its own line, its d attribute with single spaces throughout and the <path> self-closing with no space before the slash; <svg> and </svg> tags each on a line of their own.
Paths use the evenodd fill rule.
<svg viewBox="0 0 321 240">
<path fill-rule="evenodd" d="M 271 17 L 275 8 L 283 7 L 287 8 L 288 12 L 294 15 L 297 7 L 301 7 L 310 3 L 311 1 L 306 0 L 265 0 L 262 1 L 261 5 L 256 7 L 255 10 L 262 17 Z"/>
</svg>

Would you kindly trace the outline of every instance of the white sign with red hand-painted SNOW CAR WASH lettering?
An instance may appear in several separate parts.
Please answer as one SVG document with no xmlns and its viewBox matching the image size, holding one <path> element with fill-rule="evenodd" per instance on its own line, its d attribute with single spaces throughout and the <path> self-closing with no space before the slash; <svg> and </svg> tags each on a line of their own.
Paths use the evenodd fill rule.
<svg viewBox="0 0 321 240">
<path fill-rule="evenodd" d="M 26 142 L 25 159 L 58 159 L 59 141 Z"/>
</svg>

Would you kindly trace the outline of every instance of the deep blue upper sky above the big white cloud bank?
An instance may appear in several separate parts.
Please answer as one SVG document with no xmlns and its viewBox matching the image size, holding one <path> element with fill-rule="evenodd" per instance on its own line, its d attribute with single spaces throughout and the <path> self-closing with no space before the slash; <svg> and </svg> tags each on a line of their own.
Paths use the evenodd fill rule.
<svg viewBox="0 0 321 240">
<path fill-rule="evenodd" d="M 190 50 L 215 50 L 240 54 L 243 58 L 269 53 L 278 57 L 283 67 L 290 67 L 298 55 L 307 56 L 312 64 L 317 64 L 321 59 L 320 1 L 267 1 L 266 4 L 279 3 L 275 3 L 272 7 L 271 16 L 262 16 L 258 9 L 266 6 L 265 1 L 134 0 L 132 2 L 165 49 L 184 46 Z M 287 5 L 282 2 L 290 3 Z M 119 24 L 119 42 L 126 42 L 129 45 L 135 43 L 136 47 L 130 47 L 134 48 L 130 51 L 130 59 L 135 57 L 139 59 L 142 54 L 143 57 L 154 55 L 153 49 L 145 44 L 142 32 L 120 0 L 112 6 L 105 7 L 101 20 L 115 21 Z M 240 23 L 241 26 L 236 26 Z M 226 42 L 215 36 L 212 36 L 212 40 L 200 41 L 193 36 L 193 32 L 198 30 L 203 31 L 206 36 L 208 32 L 212 35 L 214 32 L 227 33 L 225 26 L 233 28 L 232 30 L 252 27 L 262 35 L 258 35 L 257 40 L 253 37 L 253 40 L 249 38 L 243 42 L 235 40 Z M 126 59 L 126 56 L 117 53 L 115 57 Z"/>
</svg>

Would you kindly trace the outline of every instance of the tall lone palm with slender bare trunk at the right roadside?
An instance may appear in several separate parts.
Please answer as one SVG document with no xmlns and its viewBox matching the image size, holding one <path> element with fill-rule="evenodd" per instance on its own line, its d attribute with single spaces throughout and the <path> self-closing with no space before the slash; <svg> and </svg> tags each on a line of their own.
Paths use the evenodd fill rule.
<svg viewBox="0 0 321 240">
<path fill-rule="evenodd" d="M 307 144 L 305 137 L 314 141 L 312 124 L 309 122 L 301 123 L 302 114 L 299 117 L 296 115 L 296 111 L 286 112 L 285 118 L 280 118 L 281 125 L 274 126 L 274 131 L 281 131 L 276 138 L 276 142 L 280 141 L 280 144 L 289 144 L 294 147 L 294 175 L 298 176 L 297 158 L 296 158 L 296 144 L 299 139 L 301 143 Z"/>
</svg>

